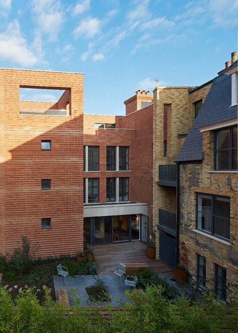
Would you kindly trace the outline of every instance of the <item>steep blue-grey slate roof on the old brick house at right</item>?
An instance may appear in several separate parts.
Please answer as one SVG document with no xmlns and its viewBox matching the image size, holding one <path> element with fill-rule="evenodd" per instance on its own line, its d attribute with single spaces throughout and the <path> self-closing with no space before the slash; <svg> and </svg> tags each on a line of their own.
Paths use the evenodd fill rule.
<svg viewBox="0 0 238 333">
<path fill-rule="evenodd" d="M 237 117 L 237 105 L 232 101 L 231 75 L 218 76 L 196 117 L 188 136 L 176 158 L 176 162 L 203 160 L 203 136 L 198 128 Z"/>
</svg>

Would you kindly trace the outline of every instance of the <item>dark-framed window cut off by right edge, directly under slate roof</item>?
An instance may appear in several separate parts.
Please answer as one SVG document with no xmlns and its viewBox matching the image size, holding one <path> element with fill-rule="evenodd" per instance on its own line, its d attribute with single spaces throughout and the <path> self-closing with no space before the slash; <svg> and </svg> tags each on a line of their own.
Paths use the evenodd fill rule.
<svg viewBox="0 0 238 333">
<path fill-rule="evenodd" d="M 237 126 L 215 131 L 215 170 L 237 170 Z"/>
</svg>

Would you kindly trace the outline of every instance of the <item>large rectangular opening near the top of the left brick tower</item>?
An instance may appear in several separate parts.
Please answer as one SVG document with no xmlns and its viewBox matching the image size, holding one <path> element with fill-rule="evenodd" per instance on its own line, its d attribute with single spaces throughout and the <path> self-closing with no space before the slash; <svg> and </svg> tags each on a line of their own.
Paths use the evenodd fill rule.
<svg viewBox="0 0 238 333">
<path fill-rule="evenodd" d="M 19 87 L 20 115 L 70 116 L 71 90 Z"/>
</svg>

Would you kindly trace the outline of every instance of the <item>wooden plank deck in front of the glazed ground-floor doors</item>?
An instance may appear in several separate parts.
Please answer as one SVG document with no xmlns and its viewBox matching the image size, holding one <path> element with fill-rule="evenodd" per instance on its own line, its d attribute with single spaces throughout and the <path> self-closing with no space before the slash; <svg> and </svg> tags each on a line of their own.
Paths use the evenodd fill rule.
<svg viewBox="0 0 238 333">
<path fill-rule="evenodd" d="M 95 252 L 95 261 L 99 264 L 96 268 L 99 275 L 113 274 L 114 267 L 120 263 L 147 263 L 154 273 L 174 274 L 173 270 L 161 260 L 148 259 L 146 244 L 139 241 L 94 245 L 92 248 Z"/>
</svg>

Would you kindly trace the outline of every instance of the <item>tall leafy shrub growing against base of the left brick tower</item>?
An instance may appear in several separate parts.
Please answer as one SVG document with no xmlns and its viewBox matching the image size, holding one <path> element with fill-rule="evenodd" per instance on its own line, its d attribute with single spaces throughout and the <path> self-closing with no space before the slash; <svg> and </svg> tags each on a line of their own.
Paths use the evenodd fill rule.
<svg viewBox="0 0 238 333">
<path fill-rule="evenodd" d="M 39 249 L 39 245 L 34 244 L 30 247 L 30 240 L 26 236 L 21 236 L 21 241 L 21 247 L 13 249 L 11 262 L 18 273 L 25 274 L 33 264 L 33 258 Z"/>
</svg>

